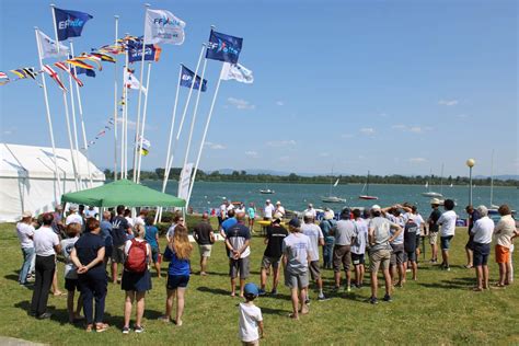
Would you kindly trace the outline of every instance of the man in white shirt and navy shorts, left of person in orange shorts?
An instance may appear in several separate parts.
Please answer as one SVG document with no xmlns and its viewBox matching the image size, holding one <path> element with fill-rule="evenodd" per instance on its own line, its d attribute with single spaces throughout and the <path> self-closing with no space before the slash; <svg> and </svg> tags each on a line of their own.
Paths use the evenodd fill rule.
<svg viewBox="0 0 519 346">
<path fill-rule="evenodd" d="M 488 218 L 488 209 L 485 206 L 477 207 L 478 219 L 471 228 L 472 237 L 472 263 L 476 274 L 476 286 L 474 291 L 488 288 L 488 255 L 491 254 L 492 234 L 494 233 L 494 221 Z"/>
</svg>

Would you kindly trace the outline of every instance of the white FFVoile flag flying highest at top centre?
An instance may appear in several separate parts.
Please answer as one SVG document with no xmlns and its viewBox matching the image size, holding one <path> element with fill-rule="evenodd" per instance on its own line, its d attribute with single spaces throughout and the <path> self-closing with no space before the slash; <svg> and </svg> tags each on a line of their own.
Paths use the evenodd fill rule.
<svg viewBox="0 0 519 346">
<path fill-rule="evenodd" d="M 146 44 L 184 43 L 184 27 L 186 23 L 166 10 L 147 10 L 145 25 Z"/>
</svg>

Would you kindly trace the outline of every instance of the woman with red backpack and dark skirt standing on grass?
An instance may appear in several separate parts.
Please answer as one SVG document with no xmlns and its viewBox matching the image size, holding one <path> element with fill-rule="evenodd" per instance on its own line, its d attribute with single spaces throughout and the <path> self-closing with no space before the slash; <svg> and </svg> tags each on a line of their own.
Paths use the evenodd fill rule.
<svg viewBox="0 0 519 346">
<path fill-rule="evenodd" d="M 151 289 L 151 276 L 148 269 L 151 263 L 151 246 L 145 240 L 146 229 L 142 224 L 135 227 L 135 238 L 127 240 L 125 244 L 125 269 L 120 288 L 126 292 L 125 298 L 125 325 L 123 334 L 129 333 L 131 307 L 137 300 L 136 319 L 134 331 L 142 333 L 142 315 L 145 314 L 146 291 Z"/>
</svg>

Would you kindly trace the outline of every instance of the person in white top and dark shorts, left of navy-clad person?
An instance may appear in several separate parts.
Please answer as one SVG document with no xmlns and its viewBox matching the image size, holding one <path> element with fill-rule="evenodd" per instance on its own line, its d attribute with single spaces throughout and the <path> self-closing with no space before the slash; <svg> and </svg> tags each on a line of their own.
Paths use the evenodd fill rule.
<svg viewBox="0 0 519 346">
<path fill-rule="evenodd" d="M 78 285 L 78 273 L 76 266 L 70 258 L 70 253 L 72 252 L 73 245 L 79 239 L 79 233 L 81 233 L 81 224 L 80 223 L 69 223 L 67 226 L 67 235 L 68 239 L 64 239 L 61 241 L 61 254 L 65 257 L 65 288 L 67 289 L 67 311 L 69 313 L 69 322 L 74 323 L 82 319 L 81 316 L 81 309 L 83 309 L 83 297 L 81 293 L 78 298 L 78 305 L 76 308 L 76 312 L 73 311 L 73 296 L 74 291 L 79 289 Z"/>
</svg>

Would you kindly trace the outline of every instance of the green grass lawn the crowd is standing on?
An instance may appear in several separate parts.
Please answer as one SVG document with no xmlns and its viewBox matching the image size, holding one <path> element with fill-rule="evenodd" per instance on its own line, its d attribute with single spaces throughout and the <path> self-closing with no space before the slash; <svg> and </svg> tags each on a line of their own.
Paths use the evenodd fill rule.
<svg viewBox="0 0 519 346">
<path fill-rule="evenodd" d="M 466 232 L 459 229 L 453 240 L 452 272 L 422 265 L 418 281 L 396 289 L 394 301 L 371 305 L 365 302 L 369 288 L 341 293 L 324 302 L 313 301 L 310 314 L 300 321 L 287 318 L 291 304 L 288 290 L 280 288 L 277 298 L 260 298 L 266 338 L 265 344 L 518 344 L 519 343 L 519 251 L 516 251 L 516 282 L 504 290 L 472 292 L 474 272 L 462 268 Z M 157 321 L 163 313 L 164 279 L 153 277 L 153 289 L 146 297 L 143 334 L 123 335 L 124 292 L 109 284 L 106 322 L 111 330 L 103 334 L 85 333 L 82 326 L 67 323 L 66 298 L 49 297 L 51 320 L 37 321 L 27 315 L 32 291 L 19 287 L 18 269 L 21 252 L 12 224 L 0 224 L 2 265 L 0 266 L 0 335 L 51 345 L 85 344 L 232 344 L 239 345 L 239 298 L 229 297 L 228 261 L 222 243 L 214 246 L 208 277 L 193 275 L 186 293 L 184 325 L 176 327 Z M 260 238 L 252 242 L 251 280 L 260 281 L 260 264 L 264 245 Z M 427 249 L 429 251 L 429 249 Z M 428 255 L 428 253 L 427 253 Z M 492 255 L 491 279 L 497 266 Z M 193 254 L 193 270 L 198 273 L 198 250 Z M 162 265 L 166 269 L 166 264 Z M 62 264 L 59 285 L 62 288 Z M 324 272 L 325 285 L 332 287 L 333 273 Z M 281 278 L 282 282 L 282 278 Z M 269 285 L 269 284 L 268 284 Z M 269 286 L 267 287 L 269 288 Z M 380 293 L 382 293 L 381 288 Z M 379 293 L 379 295 L 380 295 Z M 332 296 L 332 295 L 331 295 Z M 311 298 L 316 298 L 311 292 Z"/>
</svg>

